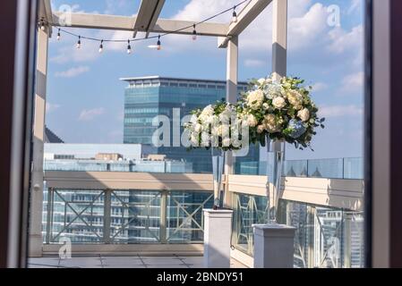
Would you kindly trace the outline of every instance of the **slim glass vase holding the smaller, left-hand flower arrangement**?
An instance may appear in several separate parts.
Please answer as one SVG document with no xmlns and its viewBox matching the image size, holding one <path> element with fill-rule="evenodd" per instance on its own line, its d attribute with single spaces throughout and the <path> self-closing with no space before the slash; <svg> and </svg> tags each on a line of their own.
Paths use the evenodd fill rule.
<svg viewBox="0 0 402 286">
<path fill-rule="evenodd" d="M 218 148 L 211 148 L 212 155 L 212 173 L 214 187 L 214 209 L 223 206 L 221 196 L 222 189 L 222 173 L 225 165 L 225 152 Z"/>
</svg>

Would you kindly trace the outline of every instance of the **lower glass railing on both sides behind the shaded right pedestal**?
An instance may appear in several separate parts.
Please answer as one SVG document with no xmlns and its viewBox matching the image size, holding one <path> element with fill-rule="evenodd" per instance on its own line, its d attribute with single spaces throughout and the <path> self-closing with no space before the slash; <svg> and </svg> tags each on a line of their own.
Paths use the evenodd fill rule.
<svg viewBox="0 0 402 286">
<path fill-rule="evenodd" d="M 233 246 L 253 256 L 252 224 L 267 223 L 267 198 L 235 193 Z M 363 213 L 281 200 L 278 222 L 295 226 L 296 268 L 364 267 Z"/>
</svg>

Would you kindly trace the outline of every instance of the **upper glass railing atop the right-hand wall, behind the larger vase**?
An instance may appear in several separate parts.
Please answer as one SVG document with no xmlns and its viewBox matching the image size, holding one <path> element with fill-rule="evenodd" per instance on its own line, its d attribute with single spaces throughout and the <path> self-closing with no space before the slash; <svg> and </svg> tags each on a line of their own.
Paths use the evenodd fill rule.
<svg viewBox="0 0 402 286">
<path fill-rule="evenodd" d="M 235 164 L 235 174 L 272 176 L 272 163 L 241 162 Z M 363 179 L 363 158 L 337 158 L 317 160 L 287 160 L 283 176 L 329 179 Z"/>
</svg>

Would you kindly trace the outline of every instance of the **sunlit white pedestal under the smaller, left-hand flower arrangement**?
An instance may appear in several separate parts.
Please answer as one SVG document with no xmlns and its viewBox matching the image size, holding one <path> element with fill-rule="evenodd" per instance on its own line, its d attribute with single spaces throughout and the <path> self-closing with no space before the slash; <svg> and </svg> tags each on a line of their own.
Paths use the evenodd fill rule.
<svg viewBox="0 0 402 286">
<path fill-rule="evenodd" d="M 204 209 L 204 267 L 230 268 L 232 210 Z"/>
</svg>

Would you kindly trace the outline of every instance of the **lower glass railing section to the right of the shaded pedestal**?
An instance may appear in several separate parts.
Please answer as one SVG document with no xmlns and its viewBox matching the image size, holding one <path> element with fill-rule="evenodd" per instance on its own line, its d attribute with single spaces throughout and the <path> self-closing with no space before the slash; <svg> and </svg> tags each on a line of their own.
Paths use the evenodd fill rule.
<svg viewBox="0 0 402 286">
<path fill-rule="evenodd" d="M 283 200 L 279 214 L 296 228 L 296 268 L 364 267 L 363 213 Z"/>
</svg>

